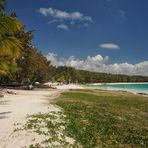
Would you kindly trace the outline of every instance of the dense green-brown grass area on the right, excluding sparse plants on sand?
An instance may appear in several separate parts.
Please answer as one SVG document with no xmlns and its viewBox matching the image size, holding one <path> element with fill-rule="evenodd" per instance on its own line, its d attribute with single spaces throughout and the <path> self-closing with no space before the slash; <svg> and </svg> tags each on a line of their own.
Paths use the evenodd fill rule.
<svg viewBox="0 0 148 148">
<path fill-rule="evenodd" d="M 66 133 L 84 148 L 148 147 L 148 98 L 98 90 L 64 92 Z"/>
</svg>

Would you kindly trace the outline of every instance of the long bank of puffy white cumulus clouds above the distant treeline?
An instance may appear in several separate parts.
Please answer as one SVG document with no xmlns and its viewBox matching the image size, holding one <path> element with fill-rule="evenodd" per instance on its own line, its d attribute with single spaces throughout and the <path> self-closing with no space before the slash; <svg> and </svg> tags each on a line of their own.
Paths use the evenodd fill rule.
<svg viewBox="0 0 148 148">
<path fill-rule="evenodd" d="M 109 57 L 103 57 L 101 55 L 96 55 L 94 57 L 88 56 L 84 60 L 77 59 L 74 56 L 70 56 L 68 58 L 60 58 L 53 53 L 48 53 L 46 57 L 54 66 L 70 66 L 77 69 L 113 74 L 148 76 L 148 61 L 140 62 L 137 64 L 107 64 Z"/>
</svg>

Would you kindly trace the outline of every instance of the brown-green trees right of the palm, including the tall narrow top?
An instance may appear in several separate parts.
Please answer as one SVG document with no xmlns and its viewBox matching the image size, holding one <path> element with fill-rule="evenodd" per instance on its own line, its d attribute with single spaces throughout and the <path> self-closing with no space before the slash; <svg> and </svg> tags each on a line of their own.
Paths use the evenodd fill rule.
<svg viewBox="0 0 148 148">
<path fill-rule="evenodd" d="M 21 84 L 34 83 L 38 81 L 44 83 L 51 78 L 52 66 L 50 61 L 32 45 L 33 31 L 24 30 L 16 36 L 22 43 L 21 56 L 17 60 L 18 71 L 15 80 Z"/>
</svg>

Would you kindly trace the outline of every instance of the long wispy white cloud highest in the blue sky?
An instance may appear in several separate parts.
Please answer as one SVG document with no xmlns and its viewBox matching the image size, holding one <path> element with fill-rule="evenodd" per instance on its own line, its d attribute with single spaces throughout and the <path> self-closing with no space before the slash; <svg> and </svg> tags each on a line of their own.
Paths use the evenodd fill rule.
<svg viewBox="0 0 148 148">
<path fill-rule="evenodd" d="M 44 16 L 51 16 L 56 19 L 61 19 L 61 20 L 78 20 L 78 21 L 90 21 L 92 22 L 92 18 L 90 16 L 85 16 L 80 12 L 66 12 L 66 11 L 61 11 L 53 8 L 40 8 L 39 13 L 41 13 Z"/>
</svg>

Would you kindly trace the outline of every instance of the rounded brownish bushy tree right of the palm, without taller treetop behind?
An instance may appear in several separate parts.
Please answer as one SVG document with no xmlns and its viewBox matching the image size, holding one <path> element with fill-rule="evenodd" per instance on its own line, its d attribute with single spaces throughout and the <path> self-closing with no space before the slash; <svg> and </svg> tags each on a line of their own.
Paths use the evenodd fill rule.
<svg viewBox="0 0 148 148">
<path fill-rule="evenodd" d="M 35 48 L 25 50 L 23 57 L 18 60 L 18 72 L 16 80 L 19 83 L 34 83 L 35 81 L 44 83 L 49 81 L 51 66 L 40 52 Z"/>
</svg>

